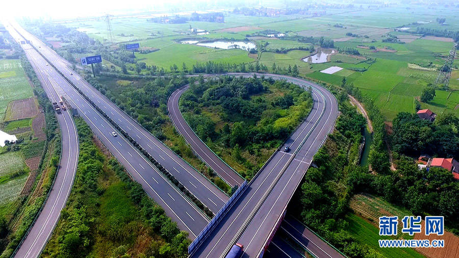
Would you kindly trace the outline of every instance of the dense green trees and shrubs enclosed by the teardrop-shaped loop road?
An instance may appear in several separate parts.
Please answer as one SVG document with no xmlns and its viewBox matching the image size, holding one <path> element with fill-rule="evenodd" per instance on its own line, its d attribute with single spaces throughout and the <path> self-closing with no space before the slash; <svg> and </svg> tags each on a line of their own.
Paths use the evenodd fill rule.
<svg viewBox="0 0 459 258">
<path fill-rule="evenodd" d="M 180 99 L 185 119 L 217 155 L 252 178 L 309 114 L 310 91 L 285 81 L 202 76 Z"/>
</svg>

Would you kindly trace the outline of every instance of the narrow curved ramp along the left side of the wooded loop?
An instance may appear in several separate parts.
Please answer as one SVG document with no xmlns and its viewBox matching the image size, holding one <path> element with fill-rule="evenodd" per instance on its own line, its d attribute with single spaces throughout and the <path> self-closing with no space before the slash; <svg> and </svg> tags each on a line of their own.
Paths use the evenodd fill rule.
<svg viewBox="0 0 459 258">
<path fill-rule="evenodd" d="M 190 87 L 185 85 L 184 87 L 177 89 L 167 100 L 167 110 L 169 116 L 174 124 L 175 128 L 185 138 L 191 148 L 204 161 L 209 167 L 211 167 L 228 185 L 240 186 L 244 182 L 244 178 L 240 176 L 236 171 L 223 162 L 205 143 L 203 143 L 199 137 L 194 133 L 188 123 L 185 121 L 182 113 L 179 109 L 180 96 Z"/>
</svg>

